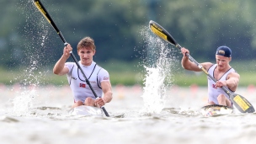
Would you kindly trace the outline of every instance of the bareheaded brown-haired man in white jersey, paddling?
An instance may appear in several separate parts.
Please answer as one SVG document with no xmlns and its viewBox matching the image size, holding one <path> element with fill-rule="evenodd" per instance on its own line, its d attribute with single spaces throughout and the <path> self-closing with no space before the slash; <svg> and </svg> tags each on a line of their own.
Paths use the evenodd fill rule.
<svg viewBox="0 0 256 144">
<path fill-rule="evenodd" d="M 78 69 L 76 63 L 67 62 L 67 59 L 70 56 L 70 51 L 72 51 L 71 45 L 68 44 L 64 47 L 63 55 L 53 68 L 53 72 L 56 75 L 67 74 L 67 80 L 70 88 L 72 88 L 74 97 L 72 108 L 80 105 L 101 107 L 105 103 L 109 103 L 112 99 L 109 72 L 104 68 L 99 67 L 93 61 L 93 56 L 96 52 L 95 49 L 96 46 L 94 45 L 94 40 L 90 37 L 83 38 L 77 45 L 77 54 L 80 57 L 78 63 L 80 67 L 82 67 L 86 77 L 88 77 L 88 80 L 97 96 L 99 96 L 99 99 L 95 99 L 92 90 L 89 88 L 88 83 L 86 83 L 83 74 Z"/>
</svg>

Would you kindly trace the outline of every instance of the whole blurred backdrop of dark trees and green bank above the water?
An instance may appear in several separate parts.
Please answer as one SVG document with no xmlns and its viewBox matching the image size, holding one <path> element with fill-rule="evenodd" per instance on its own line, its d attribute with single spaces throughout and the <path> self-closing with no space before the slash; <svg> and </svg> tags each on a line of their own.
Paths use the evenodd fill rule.
<svg viewBox="0 0 256 144">
<path fill-rule="evenodd" d="M 240 85 L 255 84 L 256 1 L 248 0 L 41 0 L 73 49 L 84 36 L 95 40 L 94 61 L 107 69 L 111 83 L 143 84 L 147 62 L 145 35 L 149 20 L 169 31 L 197 61 L 215 62 L 220 45 L 232 48 L 231 65 Z M 52 74 L 63 44 L 30 1 L 0 2 L 0 83 L 67 85 Z M 170 49 L 173 49 L 169 45 Z M 77 55 L 77 51 L 73 51 Z M 206 85 L 204 73 L 184 71 L 180 53 L 173 83 Z M 70 59 L 69 61 L 72 61 Z"/>
</svg>

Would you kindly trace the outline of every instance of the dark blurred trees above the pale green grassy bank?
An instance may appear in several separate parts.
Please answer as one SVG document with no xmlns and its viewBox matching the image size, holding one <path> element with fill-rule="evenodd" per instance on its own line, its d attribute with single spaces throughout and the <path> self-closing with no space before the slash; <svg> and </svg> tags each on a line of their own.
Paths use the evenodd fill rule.
<svg viewBox="0 0 256 144">
<path fill-rule="evenodd" d="M 85 36 L 95 40 L 95 61 L 135 61 L 145 49 L 141 30 L 154 20 L 191 55 L 214 60 L 216 48 L 232 48 L 234 60 L 254 59 L 256 25 L 248 0 L 41 0 L 76 53 Z M 2 67 L 54 64 L 63 44 L 31 1 L 0 2 Z"/>
</svg>

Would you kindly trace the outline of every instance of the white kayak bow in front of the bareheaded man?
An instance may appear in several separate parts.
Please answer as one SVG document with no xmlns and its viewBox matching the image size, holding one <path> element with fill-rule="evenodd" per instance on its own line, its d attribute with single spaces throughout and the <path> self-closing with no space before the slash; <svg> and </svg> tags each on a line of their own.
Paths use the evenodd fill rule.
<svg viewBox="0 0 256 144">
<path fill-rule="evenodd" d="M 103 111 L 100 108 L 81 105 L 76 108 L 69 110 L 70 115 L 97 115 L 103 116 Z"/>
</svg>

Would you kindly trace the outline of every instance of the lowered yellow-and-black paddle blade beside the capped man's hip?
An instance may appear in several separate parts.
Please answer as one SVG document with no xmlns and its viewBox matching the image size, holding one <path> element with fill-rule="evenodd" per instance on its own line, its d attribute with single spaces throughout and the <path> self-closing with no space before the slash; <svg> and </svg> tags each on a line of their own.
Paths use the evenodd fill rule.
<svg viewBox="0 0 256 144">
<path fill-rule="evenodd" d="M 250 102 L 248 102 L 247 99 L 243 98 L 242 95 L 233 93 L 231 95 L 231 100 L 232 103 L 241 113 L 253 113 L 255 111 L 253 105 Z"/>
</svg>

